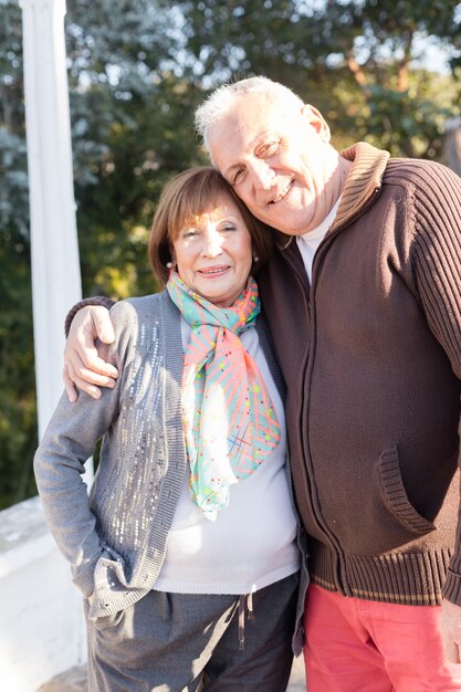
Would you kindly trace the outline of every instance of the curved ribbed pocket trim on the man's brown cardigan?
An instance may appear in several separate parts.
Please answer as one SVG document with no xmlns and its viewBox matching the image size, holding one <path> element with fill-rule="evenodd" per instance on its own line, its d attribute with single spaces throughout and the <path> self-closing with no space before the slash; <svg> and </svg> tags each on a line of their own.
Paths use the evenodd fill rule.
<svg viewBox="0 0 461 692">
<path fill-rule="evenodd" d="M 400 472 L 399 454 L 396 445 L 389 447 L 379 455 L 378 479 L 381 496 L 389 512 L 412 534 L 422 536 L 436 531 L 434 524 L 417 512 L 410 503 Z"/>
</svg>

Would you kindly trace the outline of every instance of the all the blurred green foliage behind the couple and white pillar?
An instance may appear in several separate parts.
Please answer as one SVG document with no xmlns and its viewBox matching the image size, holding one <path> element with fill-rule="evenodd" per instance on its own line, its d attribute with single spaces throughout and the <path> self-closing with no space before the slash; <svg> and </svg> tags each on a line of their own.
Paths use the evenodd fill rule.
<svg viewBox="0 0 461 692">
<path fill-rule="evenodd" d="M 440 159 L 460 115 L 452 0 L 67 0 L 74 184 L 85 295 L 156 290 L 156 200 L 206 160 L 193 111 L 217 84 L 265 74 L 316 105 L 343 148 Z M 21 10 L 0 0 L 0 506 L 35 492 L 36 445 Z M 434 53 L 430 53 L 436 50 Z M 450 70 L 431 71 L 429 54 Z"/>
</svg>

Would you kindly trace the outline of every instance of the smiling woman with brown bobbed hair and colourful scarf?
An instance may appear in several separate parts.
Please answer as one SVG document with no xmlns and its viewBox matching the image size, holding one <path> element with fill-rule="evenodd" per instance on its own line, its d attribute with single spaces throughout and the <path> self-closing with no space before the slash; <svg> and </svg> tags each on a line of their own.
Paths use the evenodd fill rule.
<svg viewBox="0 0 461 692">
<path fill-rule="evenodd" d="M 298 594 L 281 378 L 250 275 L 269 238 L 214 169 L 175 178 L 149 243 L 166 290 L 112 308 L 115 388 L 63 396 L 35 454 L 84 596 L 91 691 L 286 689 L 305 570 Z"/>
</svg>

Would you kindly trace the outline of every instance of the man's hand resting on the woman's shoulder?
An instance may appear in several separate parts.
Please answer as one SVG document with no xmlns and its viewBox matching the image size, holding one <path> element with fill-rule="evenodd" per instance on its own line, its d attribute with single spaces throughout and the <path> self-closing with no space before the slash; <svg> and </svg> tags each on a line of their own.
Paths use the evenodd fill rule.
<svg viewBox="0 0 461 692">
<path fill-rule="evenodd" d="M 96 338 L 112 344 L 115 335 L 109 312 L 101 305 L 82 307 L 74 316 L 64 349 L 64 387 L 71 402 L 77 389 L 99 399 L 99 387 L 115 387 L 117 369 L 97 355 Z"/>
</svg>

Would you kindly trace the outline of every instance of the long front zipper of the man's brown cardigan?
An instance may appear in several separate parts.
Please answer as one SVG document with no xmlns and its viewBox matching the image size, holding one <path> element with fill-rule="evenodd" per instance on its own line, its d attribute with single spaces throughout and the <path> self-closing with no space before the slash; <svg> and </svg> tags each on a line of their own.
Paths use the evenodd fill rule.
<svg viewBox="0 0 461 692">
<path fill-rule="evenodd" d="M 301 407 L 300 407 L 301 410 L 300 410 L 300 417 L 298 417 L 298 430 L 301 434 L 302 450 L 303 450 L 303 457 L 304 457 L 304 464 L 303 464 L 304 490 L 305 490 L 306 495 L 310 497 L 310 504 L 312 507 L 313 517 L 315 518 L 315 523 L 318 530 L 321 531 L 321 533 L 324 534 L 327 546 L 329 547 L 329 549 L 335 556 L 335 559 L 336 559 L 335 586 L 337 590 L 344 596 L 353 596 L 353 593 L 347 584 L 344 551 L 340 548 L 339 542 L 335 533 L 325 522 L 323 514 L 322 514 L 318 499 L 316 497 L 316 495 L 314 495 L 316 484 L 315 484 L 314 465 L 312 463 L 311 445 L 310 445 L 310 439 L 308 439 L 310 438 L 308 413 L 310 413 L 311 376 L 312 376 L 312 371 L 314 367 L 314 355 L 315 355 L 314 348 L 313 348 L 313 345 L 314 345 L 313 336 L 315 333 L 315 300 L 314 298 L 315 298 L 315 289 L 316 289 L 316 284 L 318 281 L 318 274 L 322 270 L 321 262 L 322 262 L 322 259 L 325 256 L 329 245 L 334 242 L 335 238 L 342 231 L 344 231 L 344 229 L 347 228 L 347 226 L 349 226 L 352 221 L 357 221 L 357 219 L 359 219 L 373 206 L 377 196 L 380 192 L 380 189 L 381 187 L 377 186 L 374 189 L 367 205 L 365 205 L 363 209 L 360 209 L 359 213 L 355 214 L 353 218 L 347 219 L 345 223 L 336 228 L 331 234 L 327 234 L 323 239 L 323 241 L 321 242 L 321 244 L 318 245 L 315 252 L 314 260 L 312 263 L 312 280 L 311 280 L 310 286 L 306 286 L 305 282 L 303 281 L 303 277 L 300 276 L 295 265 L 291 262 L 290 256 L 286 256 L 286 260 L 292 271 L 295 272 L 295 275 L 300 283 L 300 287 L 306 297 L 306 303 L 307 303 L 306 307 L 307 307 L 307 315 L 308 315 L 308 321 L 310 321 L 310 343 L 308 343 L 308 347 L 306 348 L 306 354 L 305 354 L 302 369 L 301 369 L 301 377 L 300 377 L 301 387 L 300 387 L 300 392 L 298 392 L 300 401 L 301 401 Z M 313 479 L 314 483 L 312 483 L 310 479 Z"/>
</svg>

